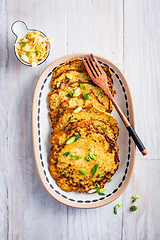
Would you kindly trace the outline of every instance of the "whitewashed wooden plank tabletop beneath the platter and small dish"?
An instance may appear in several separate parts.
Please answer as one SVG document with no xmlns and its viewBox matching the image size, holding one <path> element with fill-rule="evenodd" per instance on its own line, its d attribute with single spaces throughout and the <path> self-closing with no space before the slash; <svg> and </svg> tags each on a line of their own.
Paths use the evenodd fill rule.
<svg viewBox="0 0 160 240">
<path fill-rule="evenodd" d="M 54 39 L 48 60 L 36 69 L 14 56 L 16 20 Z M 103 56 L 122 70 L 148 150 L 145 157 L 137 150 L 125 193 L 93 210 L 67 207 L 46 192 L 32 146 L 36 82 L 51 62 L 78 52 Z M 0 240 L 160 239 L 160 1 L 1 0 L 0 56 Z M 130 212 L 134 194 L 141 198 Z"/>
</svg>

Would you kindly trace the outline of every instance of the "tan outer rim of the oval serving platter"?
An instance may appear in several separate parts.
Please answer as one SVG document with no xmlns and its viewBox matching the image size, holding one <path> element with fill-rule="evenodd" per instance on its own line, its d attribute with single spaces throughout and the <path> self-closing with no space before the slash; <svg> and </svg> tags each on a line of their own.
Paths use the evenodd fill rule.
<svg viewBox="0 0 160 240">
<path fill-rule="evenodd" d="M 61 196 L 59 196 L 58 194 L 56 194 L 55 192 L 51 191 L 51 188 L 49 186 L 49 184 L 47 183 L 45 176 L 43 174 L 43 170 L 42 170 L 42 166 L 41 166 L 41 161 L 40 161 L 40 155 L 39 155 L 39 148 L 38 148 L 38 134 L 37 134 L 37 121 L 36 121 L 36 117 L 37 117 L 37 111 L 38 111 L 38 96 L 39 96 L 39 92 L 42 86 L 42 83 L 44 81 L 44 79 L 47 77 L 47 75 L 58 65 L 60 65 L 61 63 L 64 63 L 68 60 L 71 60 L 73 58 L 83 58 L 85 56 L 88 56 L 89 53 L 74 53 L 74 54 L 69 54 L 63 57 L 58 58 L 57 60 L 53 61 L 51 64 L 49 64 L 44 71 L 41 73 L 36 86 L 35 86 L 35 90 L 34 90 L 34 94 L 33 94 L 33 102 L 32 102 L 32 138 L 33 138 L 33 149 L 34 149 L 34 158 L 35 158 L 35 162 L 36 162 L 36 167 L 37 167 L 37 171 L 38 171 L 38 175 L 40 177 L 40 180 L 44 186 L 44 188 L 46 189 L 46 191 L 57 201 L 59 201 L 60 203 L 63 203 L 67 206 L 70 207 L 74 207 L 74 208 L 81 208 L 81 209 L 92 209 L 92 208 L 98 208 L 98 207 L 102 207 L 105 206 L 113 201 L 115 201 L 118 197 L 120 197 L 124 191 L 126 190 L 126 188 L 128 187 L 132 174 L 133 174 L 133 170 L 134 170 L 134 164 L 135 164 L 135 153 L 136 153 L 136 146 L 135 143 L 133 142 L 133 140 L 131 139 L 131 153 L 130 153 L 130 164 L 129 164 L 129 168 L 128 168 L 128 173 L 126 175 L 125 181 L 123 182 L 121 188 L 118 189 L 117 192 L 115 192 L 113 195 L 111 195 L 110 197 L 108 197 L 107 199 L 103 200 L 103 201 L 99 201 L 99 202 L 94 202 L 94 203 L 90 203 L 90 204 L 82 204 L 82 203 L 77 203 L 77 202 L 69 202 L 66 199 L 63 199 Z M 127 83 L 127 80 L 125 78 L 125 76 L 123 75 L 123 73 L 119 70 L 119 68 L 112 63 L 111 61 L 109 61 L 108 59 L 95 55 L 95 57 L 101 61 L 104 62 L 105 64 L 109 65 L 111 68 L 113 68 L 116 73 L 118 74 L 118 76 L 120 77 L 120 79 L 122 80 L 123 85 L 125 86 L 125 90 L 127 92 L 127 101 L 129 103 L 129 113 L 130 113 L 130 123 L 132 125 L 133 128 L 135 128 L 135 119 L 134 119 L 134 109 L 133 109 L 133 101 L 132 101 L 132 97 L 131 97 L 131 92 Z"/>
</svg>

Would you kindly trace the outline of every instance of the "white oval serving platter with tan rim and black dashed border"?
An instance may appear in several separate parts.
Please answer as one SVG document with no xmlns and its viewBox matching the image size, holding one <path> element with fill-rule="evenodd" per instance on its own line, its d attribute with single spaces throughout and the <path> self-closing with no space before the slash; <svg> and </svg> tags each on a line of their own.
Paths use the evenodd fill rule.
<svg viewBox="0 0 160 240">
<path fill-rule="evenodd" d="M 50 83 L 53 70 L 58 65 L 65 63 L 72 58 L 82 58 L 88 54 L 71 54 L 62 57 L 51 63 L 41 74 L 35 87 L 32 106 L 32 131 L 34 155 L 39 177 L 48 193 L 59 202 L 76 208 L 96 208 L 104 206 L 117 199 L 127 188 L 134 169 L 135 144 L 129 136 L 124 124 L 122 123 L 116 110 L 113 110 L 118 126 L 119 136 L 117 145 L 119 146 L 119 169 L 113 176 L 112 182 L 105 185 L 105 196 L 98 193 L 78 193 L 65 192 L 61 190 L 56 181 L 51 177 L 48 170 L 50 154 L 51 131 L 49 122 L 49 102 L 48 93 L 51 90 Z M 130 90 L 127 81 L 121 71 L 105 58 L 96 56 L 101 64 L 110 67 L 114 78 L 114 89 L 116 90 L 115 99 L 120 108 L 127 116 L 134 128 L 134 111 Z"/>
</svg>

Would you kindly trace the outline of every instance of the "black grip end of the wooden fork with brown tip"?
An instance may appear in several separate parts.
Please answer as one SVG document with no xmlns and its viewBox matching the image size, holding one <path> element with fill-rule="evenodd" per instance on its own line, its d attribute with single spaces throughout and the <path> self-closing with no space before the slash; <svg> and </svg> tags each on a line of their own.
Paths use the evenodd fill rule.
<svg viewBox="0 0 160 240">
<path fill-rule="evenodd" d="M 126 127 L 130 136 L 133 138 L 135 144 L 137 145 L 138 149 L 141 151 L 143 155 L 147 154 L 147 150 L 143 143 L 141 142 L 140 138 L 138 137 L 137 133 L 134 131 L 133 127 L 130 125 Z"/>
</svg>

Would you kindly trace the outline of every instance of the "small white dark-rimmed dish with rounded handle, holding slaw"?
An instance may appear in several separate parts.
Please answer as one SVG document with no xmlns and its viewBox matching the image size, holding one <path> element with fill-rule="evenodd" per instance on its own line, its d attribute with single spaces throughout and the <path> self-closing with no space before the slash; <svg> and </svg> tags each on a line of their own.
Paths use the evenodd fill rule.
<svg viewBox="0 0 160 240">
<path fill-rule="evenodd" d="M 27 25 L 26 25 L 23 21 L 21 21 L 21 20 L 15 21 L 15 22 L 12 24 L 12 26 L 11 26 L 11 30 L 12 30 L 13 34 L 16 36 L 15 43 L 18 43 L 21 38 L 25 37 L 25 36 L 27 35 L 27 33 L 32 32 L 32 31 L 38 31 L 38 32 L 40 32 L 42 35 L 44 35 L 45 37 L 47 37 L 43 32 L 41 32 L 41 31 L 39 31 L 39 30 L 36 30 L 36 29 L 28 29 Z M 49 43 L 49 49 L 51 49 L 50 43 Z M 26 66 L 28 66 L 28 67 L 32 67 L 31 64 L 28 64 L 28 63 L 26 63 L 26 62 L 24 62 L 24 61 L 22 61 L 22 60 L 20 59 L 19 54 L 16 53 L 16 51 L 15 51 L 15 46 L 14 46 L 14 53 L 15 53 L 17 59 L 18 59 L 21 63 L 23 63 L 24 65 L 26 65 Z M 40 61 L 40 62 L 37 64 L 37 66 L 39 66 L 39 65 L 42 64 L 44 61 L 46 61 L 46 59 L 47 59 L 48 56 L 49 56 L 49 53 L 50 53 L 50 51 L 48 52 L 48 54 L 47 54 L 47 56 L 45 57 L 45 59 L 43 59 L 42 61 Z"/>
</svg>

